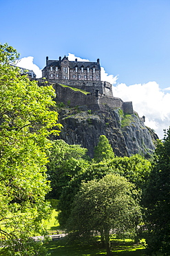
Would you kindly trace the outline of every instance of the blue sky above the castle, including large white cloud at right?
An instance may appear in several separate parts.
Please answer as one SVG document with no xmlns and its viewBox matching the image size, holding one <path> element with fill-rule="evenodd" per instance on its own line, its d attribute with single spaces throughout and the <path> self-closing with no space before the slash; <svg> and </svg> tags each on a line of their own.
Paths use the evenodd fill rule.
<svg viewBox="0 0 170 256">
<path fill-rule="evenodd" d="M 144 98 L 134 109 L 142 107 L 140 114 L 160 136 L 170 125 L 169 112 L 148 111 L 146 102 L 151 93 L 156 109 L 170 100 L 169 0 L 0 0 L 0 42 L 17 48 L 21 58 L 34 57 L 40 69 L 46 56 L 99 58 L 105 72 L 118 77 L 116 97 L 136 102 L 140 84 Z"/>
</svg>

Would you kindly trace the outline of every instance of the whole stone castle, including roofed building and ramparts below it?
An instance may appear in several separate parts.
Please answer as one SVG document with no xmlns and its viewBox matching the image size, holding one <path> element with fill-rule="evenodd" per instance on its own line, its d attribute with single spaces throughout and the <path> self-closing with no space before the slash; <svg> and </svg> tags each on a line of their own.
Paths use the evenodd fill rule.
<svg viewBox="0 0 170 256">
<path fill-rule="evenodd" d="M 56 91 L 56 101 L 70 107 L 86 106 L 91 110 L 105 111 L 105 106 L 123 109 L 124 113 L 134 113 L 132 102 L 115 98 L 112 84 L 100 80 L 100 62 L 78 62 L 59 57 L 48 60 L 42 70 L 42 77 L 52 84 Z M 39 83 L 43 83 L 42 78 Z M 73 90 L 73 88 L 78 90 Z"/>
</svg>

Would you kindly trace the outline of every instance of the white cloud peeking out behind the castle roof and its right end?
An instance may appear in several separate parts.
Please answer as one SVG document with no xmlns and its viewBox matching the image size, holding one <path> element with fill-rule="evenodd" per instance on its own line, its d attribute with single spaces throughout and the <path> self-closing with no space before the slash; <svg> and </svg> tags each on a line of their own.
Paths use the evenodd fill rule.
<svg viewBox="0 0 170 256">
<path fill-rule="evenodd" d="M 78 60 L 78 62 L 89 62 L 89 60 L 86 59 L 82 59 L 81 57 L 76 57 L 74 54 L 69 53 L 68 54 L 68 60 L 72 60 L 75 61 L 75 59 Z M 118 77 L 114 77 L 114 75 L 108 75 L 105 71 L 105 68 L 101 67 L 101 80 L 102 81 L 107 81 L 111 84 L 116 84 L 116 80 L 118 79 Z"/>
</svg>

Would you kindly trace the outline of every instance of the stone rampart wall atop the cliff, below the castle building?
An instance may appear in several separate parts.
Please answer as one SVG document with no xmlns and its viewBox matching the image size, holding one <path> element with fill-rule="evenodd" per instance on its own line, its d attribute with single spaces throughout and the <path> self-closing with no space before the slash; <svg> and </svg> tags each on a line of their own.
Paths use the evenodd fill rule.
<svg viewBox="0 0 170 256">
<path fill-rule="evenodd" d="M 43 80 L 39 79 L 38 81 L 40 85 L 43 84 Z M 60 82 L 61 84 L 65 84 L 65 80 L 61 80 Z M 82 82 L 80 82 L 80 84 L 78 84 L 77 81 L 75 82 L 76 85 L 74 85 L 72 81 L 67 81 L 67 85 L 76 87 L 78 89 L 86 89 L 85 91 L 87 91 L 87 86 L 89 86 L 89 93 L 85 94 L 81 91 L 74 91 L 69 87 L 64 87 L 56 82 L 51 83 L 50 81 L 50 84 L 53 85 L 56 91 L 56 100 L 59 102 L 63 102 L 64 104 L 69 105 L 70 107 L 87 105 L 88 109 L 104 111 L 105 105 L 108 105 L 109 107 L 114 109 L 123 109 L 125 114 L 134 113 L 132 102 L 123 102 L 123 100 L 121 100 L 120 98 L 113 97 L 112 91 L 111 95 L 109 95 L 108 92 L 103 93 L 107 89 L 108 91 L 110 91 L 109 85 L 111 84 L 100 81 L 95 82 L 95 84 L 87 82 L 83 85 Z M 100 93 L 101 83 L 105 85 L 102 93 Z"/>
</svg>

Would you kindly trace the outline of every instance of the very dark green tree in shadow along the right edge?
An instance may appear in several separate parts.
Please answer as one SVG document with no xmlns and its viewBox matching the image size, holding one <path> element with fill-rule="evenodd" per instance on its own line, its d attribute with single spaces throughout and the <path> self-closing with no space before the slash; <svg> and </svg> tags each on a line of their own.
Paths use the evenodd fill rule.
<svg viewBox="0 0 170 256">
<path fill-rule="evenodd" d="M 147 190 L 143 196 L 148 252 L 170 252 L 170 129 L 156 148 Z"/>
</svg>

